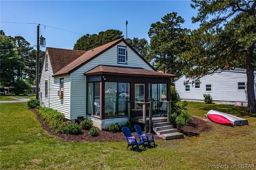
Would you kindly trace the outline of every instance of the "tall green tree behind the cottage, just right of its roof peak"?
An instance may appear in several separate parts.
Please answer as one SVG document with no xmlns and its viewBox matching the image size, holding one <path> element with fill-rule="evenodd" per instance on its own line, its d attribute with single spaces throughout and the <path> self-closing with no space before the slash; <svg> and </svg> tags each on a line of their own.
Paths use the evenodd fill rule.
<svg viewBox="0 0 256 170">
<path fill-rule="evenodd" d="M 190 30 L 181 28 L 185 20 L 175 12 L 166 14 L 161 20 L 151 24 L 148 31 L 149 57 L 158 70 L 179 76 L 184 64 L 179 55 L 186 49 L 185 37 Z"/>
</svg>

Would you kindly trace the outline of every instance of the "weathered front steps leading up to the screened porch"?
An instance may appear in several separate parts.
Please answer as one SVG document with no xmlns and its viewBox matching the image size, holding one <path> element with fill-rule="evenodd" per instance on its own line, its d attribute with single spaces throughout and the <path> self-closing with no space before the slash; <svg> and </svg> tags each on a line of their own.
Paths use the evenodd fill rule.
<svg viewBox="0 0 256 170">
<path fill-rule="evenodd" d="M 165 117 L 154 119 L 152 123 L 153 131 L 157 134 L 158 137 L 163 138 L 164 140 L 184 138 L 184 134 L 178 132 L 177 129 L 174 129 L 173 125 L 171 125 L 171 122 L 167 122 L 167 118 Z"/>
</svg>

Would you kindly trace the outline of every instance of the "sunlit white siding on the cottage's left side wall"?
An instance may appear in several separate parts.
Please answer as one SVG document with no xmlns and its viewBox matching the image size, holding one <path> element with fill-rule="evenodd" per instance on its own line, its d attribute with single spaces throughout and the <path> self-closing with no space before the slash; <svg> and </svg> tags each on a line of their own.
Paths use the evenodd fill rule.
<svg viewBox="0 0 256 170">
<path fill-rule="evenodd" d="M 47 54 L 47 52 L 46 52 Z M 49 56 L 51 57 L 51 56 Z M 47 62 L 44 62 L 42 75 L 40 79 L 40 92 L 42 92 L 42 106 L 44 107 L 51 107 L 56 109 L 57 111 L 65 114 L 66 118 L 70 118 L 70 76 L 66 75 L 63 77 L 52 77 L 53 71 L 51 67 L 51 63 L 47 58 Z M 48 63 L 48 70 L 45 71 L 45 63 Z M 63 78 L 63 91 L 65 97 L 60 99 L 58 96 L 58 90 L 60 90 L 60 78 Z M 45 97 L 45 81 L 47 81 L 48 86 L 48 96 Z"/>
</svg>

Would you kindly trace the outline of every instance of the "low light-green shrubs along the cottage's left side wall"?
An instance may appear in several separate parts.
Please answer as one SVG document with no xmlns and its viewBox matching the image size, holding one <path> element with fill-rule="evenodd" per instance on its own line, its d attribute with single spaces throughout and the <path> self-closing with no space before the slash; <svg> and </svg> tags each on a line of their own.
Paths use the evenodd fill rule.
<svg viewBox="0 0 256 170">
<path fill-rule="evenodd" d="M 52 108 L 49 107 L 39 107 L 37 108 L 37 112 L 42 118 L 47 122 L 50 123 L 53 120 L 57 121 L 65 121 L 65 116 L 63 113 L 60 113 Z"/>
</svg>

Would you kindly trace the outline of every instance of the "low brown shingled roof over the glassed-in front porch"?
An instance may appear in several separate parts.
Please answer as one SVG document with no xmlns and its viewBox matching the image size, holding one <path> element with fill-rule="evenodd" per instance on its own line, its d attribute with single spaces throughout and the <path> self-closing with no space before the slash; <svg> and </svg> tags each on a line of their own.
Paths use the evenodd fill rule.
<svg viewBox="0 0 256 170">
<path fill-rule="evenodd" d="M 126 75 L 131 77 L 161 77 L 161 78 L 174 78 L 176 75 L 161 73 L 154 70 L 146 70 L 139 67 L 122 67 L 122 66 L 109 66 L 99 65 L 84 73 L 84 75 Z"/>
</svg>

